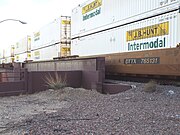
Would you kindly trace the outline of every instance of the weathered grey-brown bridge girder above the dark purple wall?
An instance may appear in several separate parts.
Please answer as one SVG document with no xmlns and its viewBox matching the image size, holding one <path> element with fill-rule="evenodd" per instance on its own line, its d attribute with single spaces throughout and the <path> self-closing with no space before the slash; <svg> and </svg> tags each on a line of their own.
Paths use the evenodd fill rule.
<svg viewBox="0 0 180 135">
<path fill-rule="evenodd" d="M 24 68 L 28 71 L 96 71 L 104 63 L 104 58 L 77 58 L 68 60 L 54 60 L 25 63 Z M 105 70 L 105 67 L 103 68 Z"/>
</svg>

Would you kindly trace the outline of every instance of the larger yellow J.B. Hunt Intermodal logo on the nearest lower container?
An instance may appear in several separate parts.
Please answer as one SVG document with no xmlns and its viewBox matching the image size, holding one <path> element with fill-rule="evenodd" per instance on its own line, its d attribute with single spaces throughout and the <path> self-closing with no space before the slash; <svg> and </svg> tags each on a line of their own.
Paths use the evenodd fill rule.
<svg viewBox="0 0 180 135">
<path fill-rule="evenodd" d="M 161 24 L 156 24 L 140 29 L 127 31 L 126 41 L 129 42 L 128 51 L 164 48 L 166 47 L 166 43 L 167 43 L 166 42 L 167 36 L 165 35 L 168 34 L 169 34 L 169 22 L 164 22 Z M 148 40 L 145 41 L 145 39 Z"/>
</svg>

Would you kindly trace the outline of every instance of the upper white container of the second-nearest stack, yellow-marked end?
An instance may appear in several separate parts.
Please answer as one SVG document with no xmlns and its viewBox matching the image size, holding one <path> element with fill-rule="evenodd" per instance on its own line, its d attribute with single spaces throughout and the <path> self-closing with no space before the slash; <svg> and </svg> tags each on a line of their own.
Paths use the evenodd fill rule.
<svg viewBox="0 0 180 135">
<path fill-rule="evenodd" d="M 61 42 L 71 42 L 71 18 L 61 16 L 42 27 L 32 35 L 31 50 L 53 46 Z"/>
</svg>

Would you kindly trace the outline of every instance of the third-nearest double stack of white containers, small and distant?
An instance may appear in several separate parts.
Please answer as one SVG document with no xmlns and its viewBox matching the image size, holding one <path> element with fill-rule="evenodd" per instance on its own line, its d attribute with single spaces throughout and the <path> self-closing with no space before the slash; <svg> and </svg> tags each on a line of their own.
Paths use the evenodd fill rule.
<svg viewBox="0 0 180 135">
<path fill-rule="evenodd" d="M 14 46 L 14 62 L 31 60 L 31 37 L 26 36 Z"/>
</svg>

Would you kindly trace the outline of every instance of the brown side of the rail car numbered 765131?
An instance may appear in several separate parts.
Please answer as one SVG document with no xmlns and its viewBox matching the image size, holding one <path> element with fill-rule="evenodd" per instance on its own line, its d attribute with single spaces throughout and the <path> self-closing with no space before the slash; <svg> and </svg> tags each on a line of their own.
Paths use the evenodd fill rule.
<svg viewBox="0 0 180 135">
<path fill-rule="evenodd" d="M 180 48 L 106 55 L 107 74 L 180 76 Z M 154 63 L 124 63 L 127 59 L 158 58 Z M 143 61 L 144 62 L 144 61 Z M 145 62 L 149 62 L 146 61 Z"/>
</svg>

